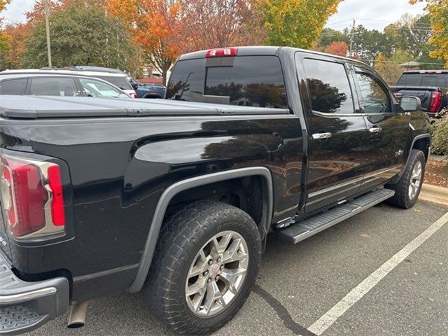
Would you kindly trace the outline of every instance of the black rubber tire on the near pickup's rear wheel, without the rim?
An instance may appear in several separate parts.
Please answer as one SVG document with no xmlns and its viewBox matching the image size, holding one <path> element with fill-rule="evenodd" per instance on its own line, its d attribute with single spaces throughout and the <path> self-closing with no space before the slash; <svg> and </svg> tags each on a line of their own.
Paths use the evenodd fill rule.
<svg viewBox="0 0 448 336">
<path fill-rule="evenodd" d="M 193 259 L 219 232 L 232 230 L 248 247 L 248 268 L 239 292 L 224 310 L 197 316 L 188 307 L 186 280 Z M 261 241 L 253 219 L 241 209 L 221 202 L 188 204 L 168 216 L 162 225 L 143 295 L 153 314 L 180 335 L 209 335 L 221 328 L 246 301 L 261 259 Z"/>
</svg>

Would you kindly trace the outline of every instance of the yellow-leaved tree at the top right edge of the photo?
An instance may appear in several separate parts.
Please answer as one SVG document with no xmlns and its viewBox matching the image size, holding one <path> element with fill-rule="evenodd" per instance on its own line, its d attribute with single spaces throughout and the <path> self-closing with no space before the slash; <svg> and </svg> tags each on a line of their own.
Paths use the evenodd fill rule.
<svg viewBox="0 0 448 336">
<path fill-rule="evenodd" d="M 423 2 L 422 0 L 411 0 L 410 3 Z M 429 39 L 433 50 L 430 57 L 444 59 L 448 67 L 448 0 L 424 0 L 427 3 L 430 25 L 433 35 Z"/>
</svg>

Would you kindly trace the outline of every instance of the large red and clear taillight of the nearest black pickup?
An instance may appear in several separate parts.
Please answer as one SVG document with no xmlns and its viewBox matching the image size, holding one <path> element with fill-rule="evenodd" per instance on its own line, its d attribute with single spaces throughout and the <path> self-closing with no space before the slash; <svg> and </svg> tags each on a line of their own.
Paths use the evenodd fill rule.
<svg viewBox="0 0 448 336">
<path fill-rule="evenodd" d="M 64 230 L 59 166 L 2 155 L 1 204 L 10 233 L 16 238 Z"/>
</svg>

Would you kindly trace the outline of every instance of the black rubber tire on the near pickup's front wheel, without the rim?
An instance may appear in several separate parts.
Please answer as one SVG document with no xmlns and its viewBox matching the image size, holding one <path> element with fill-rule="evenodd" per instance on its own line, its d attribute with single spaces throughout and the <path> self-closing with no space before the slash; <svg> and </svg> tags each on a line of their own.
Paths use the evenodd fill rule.
<svg viewBox="0 0 448 336">
<path fill-rule="evenodd" d="M 417 165 L 417 162 L 420 162 L 421 164 L 421 182 L 418 189 L 416 190 L 416 195 L 414 195 L 414 197 L 409 197 L 409 185 L 411 184 L 412 180 L 412 170 L 414 169 L 415 165 Z M 409 154 L 409 160 L 407 161 L 407 165 L 405 167 L 405 172 L 403 172 L 398 182 L 386 185 L 386 188 L 395 190 L 395 195 L 389 198 L 386 202 L 402 209 L 409 209 L 414 207 L 414 204 L 419 198 L 419 193 L 423 184 L 425 165 L 426 159 L 423 152 L 419 151 L 418 149 L 412 149 L 411 153 Z"/>
</svg>

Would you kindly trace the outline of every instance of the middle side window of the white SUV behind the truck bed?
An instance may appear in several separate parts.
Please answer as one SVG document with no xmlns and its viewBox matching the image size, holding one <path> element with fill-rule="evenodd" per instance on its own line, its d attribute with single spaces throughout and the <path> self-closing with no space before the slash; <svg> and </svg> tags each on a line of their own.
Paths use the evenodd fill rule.
<svg viewBox="0 0 448 336">
<path fill-rule="evenodd" d="M 36 77 L 31 78 L 29 94 L 36 96 L 73 97 L 78 95 L 75 80 L 69 77 Z"/>
</svg>

